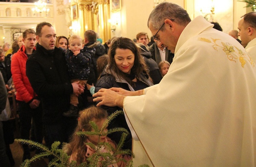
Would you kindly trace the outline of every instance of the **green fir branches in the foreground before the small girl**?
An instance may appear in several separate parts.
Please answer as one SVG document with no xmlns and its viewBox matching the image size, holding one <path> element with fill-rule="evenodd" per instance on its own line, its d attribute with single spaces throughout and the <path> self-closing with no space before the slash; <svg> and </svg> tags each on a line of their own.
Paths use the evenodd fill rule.
<svg viewBox="0 0 256 167">
<path fill-rule="evenodd" d="M 41 143 L 37 143 L 31 140 L 26 139 L 15 139 L 16 142 L 20 142 L 22 144 L 26 144 L 32 147 L 36 147 L 40 149 L 42 152 L 39 154 L 35 154 L 30 160 L 25 160 L 20 166 L 21 167 L 30 167 L 31 163 L 33 161 L 36 161 L 38 159 L 41 159 L 43 157 L 53 156 L 53 160 L 49 162 L 48 167 L 107 167 L 113 163 L 124 161 L 123 158 L 116 158 L 116 155 L 119 154 L 129 154 L 132 157 L 134 157 L 134 154 L 131 152 L 131 150 L 122 150 L 122 146 L 124 144 L 124 141 L 127 137 L 128 131 L 125 128 L 112 128 L 108 130 L 108 132 L 105 132 L 105 128 L 108 126 L 109 122 L 112 121 L 118 114 L 123 114 L 123 111 L 116 111 L 112 113 L 108 119 L 103 123 L 102 127 L 98 127 L 97 124 L 93 121 L 90 121 L 90 125 L 93 127 L 94 132 L 86 131 L 86 132 L 77 132 L 76 135 L 78 136 L 86 136 L 86 135 L 98 135 L 99 140 L 100 136 L 106 136 L 110 133 L 114 132 L 123 132 L 120 141 L 118 142 L 117 148 L 114 149 L 113 146 L 110 143 L 105 142 L 99 142 L 98 145 L 94 145 L 91 142 L 86 143 L 86 145 L 93 148 L 96 152 L 92 154 L 90 157 L 87 158 L 87 162 L 83 162 L 81 164 L 77 164 L 76 161 L 69 162 L 70 156 L 66 152 L 63 151 L 63 149 L 60 149 L 61 143 L 59 141 L 55 141 L 51 149 L 44 146 Z M 66 143 L 62 143 L 62 148 Z M 109 152 L 102 153 L 101 149 L 104 147 Z M 111 154 L 110 152 L 114 152 L 114 154 Z M 103 158 L 103 161 L 102 161 Z M 132 167 L 133 162 L 128 161 L 126 164 L 127 167 Z M 148 165 L 141 165 L 140 167 L 148 167 Z"/>
</svg>

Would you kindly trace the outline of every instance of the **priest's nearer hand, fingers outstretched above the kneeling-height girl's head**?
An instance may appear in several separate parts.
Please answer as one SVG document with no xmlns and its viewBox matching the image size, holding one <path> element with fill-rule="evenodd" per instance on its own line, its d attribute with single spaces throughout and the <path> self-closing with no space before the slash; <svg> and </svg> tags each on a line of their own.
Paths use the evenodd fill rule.
<svg viewBox="0 0 256 167">
<path fill-rule="evenodd" d="M 97 93 L 93 95 L 94 102 L 98 102 L 97 107 L 105 105 L 109 107 L 118 106 L 123 108 L 124 95 L 121 95 L 110 89 L 100 89 Z"/>
</svg>

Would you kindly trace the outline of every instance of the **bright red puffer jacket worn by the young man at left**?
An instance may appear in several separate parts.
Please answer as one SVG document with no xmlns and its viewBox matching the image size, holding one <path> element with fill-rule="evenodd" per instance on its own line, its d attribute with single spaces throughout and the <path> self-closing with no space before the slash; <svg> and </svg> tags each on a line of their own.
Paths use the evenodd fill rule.
<svg viewBox="0 0 256 167">
<path fill-rule="evenodd" d="M 33 48 L 35 50 L 35 47 Z M 25 103 L 31 102 L 35 97 L 33 88 L 30 85 L 28 77 L 26 75 L 26 62 L 27 55 L 25 52 L 25 46 L 19 48 L 19 50 L 12 56 L 11 72 L 12 79 L 16 89 L 16 100 L 23 101 Z"/>
</svg>

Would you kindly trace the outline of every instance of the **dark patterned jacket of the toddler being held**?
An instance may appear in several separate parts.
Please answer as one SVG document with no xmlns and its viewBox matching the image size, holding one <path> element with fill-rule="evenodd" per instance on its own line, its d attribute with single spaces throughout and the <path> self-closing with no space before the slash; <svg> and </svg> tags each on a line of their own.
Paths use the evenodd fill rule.
<svg viewBox="0 0 256 167">
<path fill-rule="evenodd" d="M 88 80 L 90 64 L 92 63 L 91 56 L 94 54 L 94 48 L 84 47 L 76 56 L 71 50 L 67 49 L 65 57 L 71 79 Z"/>
</svg>

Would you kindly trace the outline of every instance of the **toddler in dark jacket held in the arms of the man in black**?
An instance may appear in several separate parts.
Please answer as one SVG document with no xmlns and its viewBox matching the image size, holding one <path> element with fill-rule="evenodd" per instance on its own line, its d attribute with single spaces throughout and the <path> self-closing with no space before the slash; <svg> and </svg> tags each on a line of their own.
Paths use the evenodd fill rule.
<svg viewBox="0 0 256 167">
<path fill-rule="evenodd" d="M 68 71 L 71 77 L 71 82 L 80 83 L 84 87 L 90 74 L 90 51 L 94 51 L 94 49 L 83 48 L 84 44 L 82 38 L 78 35 L 72 35 L 69 39 L 69 45 L 65 57 L 68 63 Z M 63 112 L 63 116 L 77 117 L 77 105 L 77 94 L 73 93 L 70 95 L 70 108 L 68 111 Z"/>
</svg>

